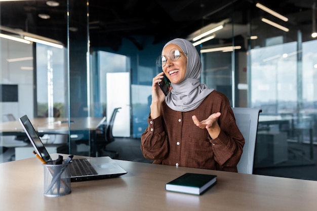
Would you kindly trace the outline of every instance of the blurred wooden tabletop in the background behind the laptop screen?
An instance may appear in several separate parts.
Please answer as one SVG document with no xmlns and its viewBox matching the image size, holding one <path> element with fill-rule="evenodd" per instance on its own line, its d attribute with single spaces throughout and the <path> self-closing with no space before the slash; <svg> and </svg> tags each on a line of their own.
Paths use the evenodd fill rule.
<svg viewBox="0 0 317 211">
<path fill-rule="evenodd" d="M 102 117 L 76 117 L 71 118 L 70 130 L 95 130 L 97 125 L 103 120 Z M 41 132 L 60 132 L 68 134 L 68 121 L 62 118 L 30 118 L 34 129 Z M 9 135 L 23 133 L 19 120 L 0 122 L 0 132 Z"/>
</svg>

